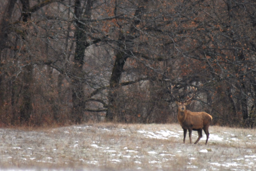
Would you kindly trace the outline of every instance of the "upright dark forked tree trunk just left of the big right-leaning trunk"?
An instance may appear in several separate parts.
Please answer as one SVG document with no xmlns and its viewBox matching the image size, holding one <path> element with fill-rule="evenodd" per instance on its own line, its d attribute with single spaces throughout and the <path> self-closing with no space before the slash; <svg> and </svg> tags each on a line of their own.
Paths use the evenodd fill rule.
<svg viewBox="0 0 256 171">
<path fill-rule="evenodd" d="M 84 16 L 90 18 L 92 15 L 92 6 L 94 0 L 88 0 L 86 5 L 86 10 Z M 73 108 L 71 113 L 71 121 L 75 123 L 81 123 L 84 118 L 84 108 L 85 108 L 85 99 L 84 99 L 84 83 L 79 79 L 84 77 L 83 66 L 84 66 L 84 55 L 86 50 L 87 42 L 87 31 L 88 26 L 79 22 L 79 18 L 82 16 L 81 1 L 75 1 L 75 18 L 76 18 L 76 49 L 74 57 L 74 72 L 76 76 L 72 80 L 72 102 Z"/>
</svg>

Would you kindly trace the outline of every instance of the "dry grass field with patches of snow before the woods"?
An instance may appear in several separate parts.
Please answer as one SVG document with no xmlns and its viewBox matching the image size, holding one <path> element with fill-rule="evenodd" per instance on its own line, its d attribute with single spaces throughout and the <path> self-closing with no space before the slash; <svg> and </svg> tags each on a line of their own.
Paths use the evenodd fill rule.
<svg viewBox="0 0 256 171">
<path fill-rule="evenodd" d="M 0 170 L 256 170 L 256 130 L 211 126 L 197 145 L 178 124 L 0 129 Z M 197 139 L 193 131 L 192 141 Z"/>
</svg>

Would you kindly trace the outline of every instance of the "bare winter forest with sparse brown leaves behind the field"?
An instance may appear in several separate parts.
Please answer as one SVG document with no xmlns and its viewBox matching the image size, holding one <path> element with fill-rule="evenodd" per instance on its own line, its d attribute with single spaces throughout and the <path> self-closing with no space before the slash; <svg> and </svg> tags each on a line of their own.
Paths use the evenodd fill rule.
<svg viewBox="0 0 256 171">
<path fill-rule="evenodd" d="M 0 125 L 256 126 L 255 0 L 0 0 Z"/>
</svg>

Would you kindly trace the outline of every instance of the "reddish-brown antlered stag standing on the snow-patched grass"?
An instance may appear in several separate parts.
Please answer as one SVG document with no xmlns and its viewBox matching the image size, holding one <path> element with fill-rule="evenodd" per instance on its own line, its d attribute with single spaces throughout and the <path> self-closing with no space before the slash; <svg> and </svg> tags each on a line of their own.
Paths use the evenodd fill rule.
<svg viewBox="0 0 256 171">
<path fill-rule="evenodd" d="M 171 94 L 174 86 L 171 86 Z M 178 105 L 178 121 L 181 127 L 183 128 L 183 133 L 184 133 L 183 143 L 185 143 L 187 130 L 189 130 L 190 143 L 192 142 L 192 138 L 191 138 L 192 131 L 198 132 L 198 138 L 194 144 L 198 143 L 200 138 L 202 138 L 203 136 L 202 130 L 204 130 L 206 134 L 205 144 L 207 145 L 208 138 L 209 138 L 209 126 L 211 125 L 213 118 L 211 115 L 207 114 L 206 112 L 191 112 L 190 110 L 186 109 L 186 106 L 191 103 L 196 93 L 195 87 L 191 87 L 191 89 L 193 91 L 192 96 L 191 97 L 188 96 L 188 98 L 183 101 L 181 101 L 180 99 L 177 99 L 172 94 L 176 104 Z"/>
</svg>

